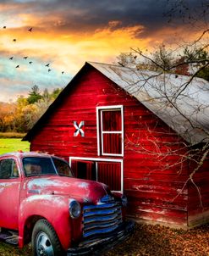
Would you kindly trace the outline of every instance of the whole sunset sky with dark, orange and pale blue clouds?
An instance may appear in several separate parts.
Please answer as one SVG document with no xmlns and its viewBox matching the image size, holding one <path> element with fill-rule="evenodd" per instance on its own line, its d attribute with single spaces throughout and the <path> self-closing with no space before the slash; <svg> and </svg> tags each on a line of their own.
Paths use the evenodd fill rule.
<svg viewBox="0 0 209 256">
<path fill-rule="evenodd" d="M 204 20 L 196 16 L 188 25 L 180 9 L 200 14 L 209 3 L 188 0 L 175 8 L 180 2 L 0 0 L 0 101 L 25 96 L 34 85 L 41 91 L 66 86 L 85 61 L 112 64 L 130 47 L 149 51 L 195 40 Z"/>
</svg>

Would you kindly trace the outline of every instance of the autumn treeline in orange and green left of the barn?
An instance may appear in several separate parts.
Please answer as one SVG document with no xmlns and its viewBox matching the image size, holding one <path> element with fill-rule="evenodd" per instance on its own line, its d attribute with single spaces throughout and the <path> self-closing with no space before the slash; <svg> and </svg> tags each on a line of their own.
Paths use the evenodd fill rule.
<svg viewBox="0 0 209 256">
<path fill-rule="evenodd" d="M 61 91 L 58 88 L 50 93 L 45 89 L 41 93 L 38 86 L 33 86 L 28 97 L 20 96 L 14 103 L 0 103 L 0 132 L 29 131 Z"/>
</svg>

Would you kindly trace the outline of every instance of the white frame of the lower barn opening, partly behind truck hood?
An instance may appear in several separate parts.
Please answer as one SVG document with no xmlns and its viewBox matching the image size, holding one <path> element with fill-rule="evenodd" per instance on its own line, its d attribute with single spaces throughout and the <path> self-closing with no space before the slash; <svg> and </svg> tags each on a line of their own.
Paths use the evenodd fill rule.
<svg viewBox="0 0 209 256">
<path fill-rule="evenodd" d="M 93 161 L 96 162 L 96 181 L 98 180 L 98 162 L 112 162 L 112 163 L 120 163 L 120 176 L 121 176 L 121 183 L 120 191 L 112 191 L 112 192 L 121 192 L 124 193 L 124 160 L 123 159 L 97 159 L 97 158 L 82 158 L 82 157 L 69 157 L 69 166 L 72 165 L 72 160 L 83 160 L 83 161 Z"/>
</svg>

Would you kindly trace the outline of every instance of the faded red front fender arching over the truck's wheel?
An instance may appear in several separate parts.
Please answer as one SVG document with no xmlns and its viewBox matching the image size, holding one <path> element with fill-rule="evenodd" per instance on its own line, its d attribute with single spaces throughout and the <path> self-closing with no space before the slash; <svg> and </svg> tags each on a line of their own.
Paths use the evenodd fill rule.
<svg viewBox="0 0 209 256">
<path fill-rule="evenodd" d="M 34 216 L 38 219 L 46 219 L 56 231 L 63 248 L 69 248 L 71 242 L 70 201 L 68 197 L 60 195 L 32 195 L 25 198 L 19 206 L 19 247 L 23 248 L 25 244 L 25 225 Z"/>
</svg>

